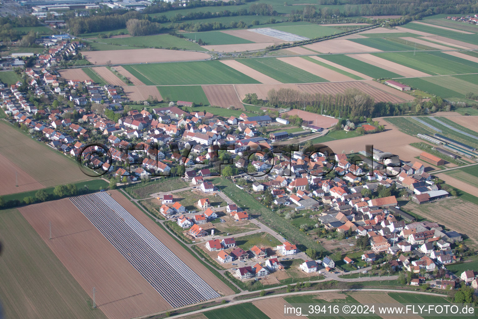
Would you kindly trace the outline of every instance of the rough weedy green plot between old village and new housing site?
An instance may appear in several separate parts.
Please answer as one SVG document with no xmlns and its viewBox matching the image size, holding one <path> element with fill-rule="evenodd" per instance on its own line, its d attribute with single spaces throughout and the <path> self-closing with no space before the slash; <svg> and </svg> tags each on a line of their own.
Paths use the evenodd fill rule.
<svg viewBox="0 0 478 319">
<path fill-rule="evenodd" d="M 181 177 L 161 177 L 146 184 L 138 183 L 128 185 L 124 189 L 136 199 L 148 198 L 150 194 L 157 192 L 168 192 L 174 189 L 188 187 Z"/>
</svg>

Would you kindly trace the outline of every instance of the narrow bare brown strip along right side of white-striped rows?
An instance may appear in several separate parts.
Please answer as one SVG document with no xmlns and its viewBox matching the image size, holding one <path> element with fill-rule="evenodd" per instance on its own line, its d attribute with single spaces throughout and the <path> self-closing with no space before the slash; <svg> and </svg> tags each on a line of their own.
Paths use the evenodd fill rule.
<svg viewBox="0 0 478 319">
<path fill-rule="evenodd" d="M 148 231 L 163 242 L 166 247 L 174 252 L 187 266 L 189 266 L 196 274 L 198 274 L 206 283 L 216 290 L 221 295 L 232 295 L 234 291 L 224 284 L 219 278 L 213 275 L 203 264 L 201 264 L 195 257 L 188 253 L 178 242 L 176 242 L 169 234 L 159 228 L 145 213 L 134 206 L 126 197 L 120 194 L 119 191 L 110 191 L 111 198 L 116 200 L 122 207 L 136 218 Z"/>
</svg>

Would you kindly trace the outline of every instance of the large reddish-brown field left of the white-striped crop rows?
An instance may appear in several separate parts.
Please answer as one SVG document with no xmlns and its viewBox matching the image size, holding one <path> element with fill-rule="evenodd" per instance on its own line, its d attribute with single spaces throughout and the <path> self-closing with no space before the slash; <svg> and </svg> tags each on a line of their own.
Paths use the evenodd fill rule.
<svg viewBox="0 0 478 319">
<path fill-rule="evenodd" d="M 171 308 L 68 198 L 19 210 L 91 298 L 96 288 L 98 308 L 109 319 Z"/>
</svg>

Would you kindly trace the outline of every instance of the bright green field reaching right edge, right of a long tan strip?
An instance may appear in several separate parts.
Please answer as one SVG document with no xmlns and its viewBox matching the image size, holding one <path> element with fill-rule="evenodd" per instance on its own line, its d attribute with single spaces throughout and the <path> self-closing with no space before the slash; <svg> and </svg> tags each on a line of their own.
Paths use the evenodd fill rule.
<svg viewBox="0 0 478 319">
<path fill-rule="evenodd" d="M 442 52 L 374 53 L 373 55 L 430 75 L 478 73 L 478 64 Z"/>
</svg>

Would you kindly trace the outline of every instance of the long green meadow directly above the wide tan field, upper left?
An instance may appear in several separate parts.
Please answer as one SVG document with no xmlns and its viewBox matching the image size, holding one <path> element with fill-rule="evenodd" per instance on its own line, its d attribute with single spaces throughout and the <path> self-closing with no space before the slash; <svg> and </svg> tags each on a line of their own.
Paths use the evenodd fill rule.
<svg viewBox="0 0 478 319">
<path fill-rule="evenodd" d="M 224 34 L 224 33 L 223 33 Z M 227 34 L 226 34 L 227 35 Z M 178 38 L 177 36 L 170 34 L 157 34 L 157 35 L 147 35 L 147 36 L 132 36 L 126 38 L 114 38 L 114 39 L 99 39 L 98 42 L 106 44 L 121 44 L 148 48 L 158 47 L 158 48 L 171 48 L 177 47 L 179 49 L 193 50 L 193 51 L 207 51 L 203 49 L 199 44 L 192 41 L 187 41 L 186 39 Z M 120 46 L 121 48 L 122 46 Z"/>
</svg>

